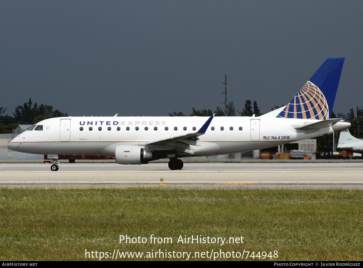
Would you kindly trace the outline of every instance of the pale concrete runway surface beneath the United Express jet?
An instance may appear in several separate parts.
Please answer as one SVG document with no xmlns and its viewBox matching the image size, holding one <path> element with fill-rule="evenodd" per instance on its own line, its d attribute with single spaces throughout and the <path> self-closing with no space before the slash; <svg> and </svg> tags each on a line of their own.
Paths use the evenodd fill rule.
<svg viewBox="0 0 363 268">
<path fill-rule="evenodd" d="M 118 165 L 115 163 L 50 164 L 0 163 L 0 187 L 286 188 L 363 189 L 363 163 L 185 163 L 170 170 L 167 163 Z"/>
</svg>

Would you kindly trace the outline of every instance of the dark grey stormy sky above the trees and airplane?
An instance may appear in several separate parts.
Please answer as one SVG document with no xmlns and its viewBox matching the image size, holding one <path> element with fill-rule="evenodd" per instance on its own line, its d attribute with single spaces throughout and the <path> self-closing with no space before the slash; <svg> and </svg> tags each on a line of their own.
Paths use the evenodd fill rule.
<svg viewBox="0 0 363 268">
<path fill-rule="evenodd" d="M 0 1 L 0 107 L 167 116 L 286 105 L 346 57 L 333 111 L 362 108 L 362 1 Z"/>
</svg>

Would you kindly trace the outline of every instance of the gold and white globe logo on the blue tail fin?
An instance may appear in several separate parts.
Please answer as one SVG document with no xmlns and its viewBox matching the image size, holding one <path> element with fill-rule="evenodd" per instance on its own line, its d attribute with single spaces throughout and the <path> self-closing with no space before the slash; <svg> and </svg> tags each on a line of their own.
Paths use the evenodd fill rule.
<svg viewBox="0 0 363 268">
<path fill-rule="evenodd" d="M 307 81 L 276 117 L 325 120 L 329 118 L 328 103 L 321 90 Z"/>
</svg>

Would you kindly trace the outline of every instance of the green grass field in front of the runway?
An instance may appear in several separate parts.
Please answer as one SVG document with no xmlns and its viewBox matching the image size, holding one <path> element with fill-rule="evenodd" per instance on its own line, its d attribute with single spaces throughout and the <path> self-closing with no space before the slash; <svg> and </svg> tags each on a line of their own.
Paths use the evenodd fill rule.
<svg viewBox="0 0 363 268">
<path fill-rule="evenodd" d="M 98 258 L 90 253 L 86 259 L 86 249 L 108 252 L 109 258 L 105 255 L 102 260 L 112 260 L 114 250 L 143 252 L 143 256 L 159 250 L 191 252 L 194 258 L 189 260 L 209 260 L 212 250 L 212 260 L 238 260 L 241 257 L 228 257 L 226 252 L 244 250 L 244 259 L 249 251 L 260 252 L 260 259 L 272 252 L 272 260 L 362 260 L 362 194 L 361 190 L 0 189 L 0 260 L 99 259 L 99 253 Z M 144 237 L 147 243 L 119 243 L 120 235 Z M 150 243 L 151 235 L 172 238 L 172 243 Z M 243 236 L 244 243 L 183 244 L 177 243 L 180 235 L 225 241 Z M 207 257 L 195 255 L 207 251 Z M 216 257 L 216 251 L 225 255 Z M 117 259 L 187 259 L 176 253 L 175 258 L 166 256 Z"/>
</svg>

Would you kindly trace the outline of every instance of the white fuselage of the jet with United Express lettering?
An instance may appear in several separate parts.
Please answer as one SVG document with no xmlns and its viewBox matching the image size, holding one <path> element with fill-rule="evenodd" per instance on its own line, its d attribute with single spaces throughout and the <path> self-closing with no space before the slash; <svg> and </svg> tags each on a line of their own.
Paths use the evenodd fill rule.
<svg viewBox="0 0 363 268">
<path fill-rule="evenodd" d="M 35 154 L 115 156 L 115 148 L 123 144 L 145 144 L 195 133 L 208 117 L 57 117 L 43 120 L 42 130 L 25 131 L 8 147 Z M 213 117 L 199 146 L 193 154 L 177 153 L 178 157 L 211 156 L 268 148 L 291 141 L 310 139 L 347 127 L 295 129 L 319 120 L 289 119 L 271 116 Z M 136 130 L 138 128 L 138 130 Z M 214 130 L 213 130 L 214 129 Z"/>
</svg>

